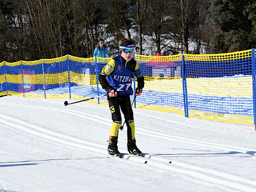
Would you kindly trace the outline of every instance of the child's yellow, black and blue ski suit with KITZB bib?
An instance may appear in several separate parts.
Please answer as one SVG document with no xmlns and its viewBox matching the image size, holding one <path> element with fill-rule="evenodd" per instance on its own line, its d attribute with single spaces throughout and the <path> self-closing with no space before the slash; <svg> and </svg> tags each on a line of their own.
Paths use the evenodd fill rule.
<svg viewBox="0 0 256 192">
<path fill-rule="evenodd" d="M 113 120 L 110 136 L 113 138 L 118 138 L 118 129 L 122 126 L 122 111 L 127 125 L 127 139 L 135 139 L 135 125 L 130 100 L 130 95 L 133 94 L 131 85 L 134 76 L 137 77 L 137 88 L 142 89 L 144 87 L 144 77 L 138 62 L 133 58 L 131 61 L 126 61 L 122 56 L 111 59 L 99 74 L 102 88 L 107 92 L 116 90 L 118 93 L 117 97 L 107 95 Z"/>
</svg>

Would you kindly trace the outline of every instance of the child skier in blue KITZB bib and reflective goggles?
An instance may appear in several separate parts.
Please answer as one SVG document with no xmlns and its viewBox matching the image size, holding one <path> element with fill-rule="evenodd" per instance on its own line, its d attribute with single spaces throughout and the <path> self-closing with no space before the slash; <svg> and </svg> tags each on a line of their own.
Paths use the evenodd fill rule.
<svg viewBox="0 0 256 192">
<path fill-rule="evenodd" d="M 102 88 L 108 92 L 108 104 L 113 120 L 108 140 L 108 153 L 112 156 L 120 156 L 117 141 L 118 129 L 122 126 L 122 111 L 127 125 L 127 149 L 130 154 L 141 156 L 142 153 L 136 146 L 130 95 L 133 94 L 132 78 L 137 77 L 138 86 L 135 95 L 139 96 L 144 87 L 144 77 L 138 62 L 132 58 L 136 42 L 131 39 L 124 39 L 118 45 L 119 49 L 122 50 L 121 56 L 112 58 L 99 75 Z"/>
</svg>

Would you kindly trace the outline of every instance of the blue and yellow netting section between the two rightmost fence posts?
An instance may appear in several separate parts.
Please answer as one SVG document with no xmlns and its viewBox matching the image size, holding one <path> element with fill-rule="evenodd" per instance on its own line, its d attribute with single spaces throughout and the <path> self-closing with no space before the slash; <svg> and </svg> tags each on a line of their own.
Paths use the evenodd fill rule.
<svg viewBox="0 0 256 192">
<path fill-rule="evenodd" d="M 184 54 L 189 116 L 252 123 L 251 54 Z"/>
</svg>

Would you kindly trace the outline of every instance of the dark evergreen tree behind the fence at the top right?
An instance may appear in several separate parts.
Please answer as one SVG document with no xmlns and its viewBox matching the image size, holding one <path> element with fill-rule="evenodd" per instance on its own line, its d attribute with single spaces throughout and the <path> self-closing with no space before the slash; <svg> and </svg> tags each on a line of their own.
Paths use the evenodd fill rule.
<svg viewBox="0 0 256 192">
<path fill-rule="evenodd" d="M 208 24 L 216 28 L 208 52 L 233 52 L 255 47 L 253 22 L 249 17 L 251 1 L 211 0 Z"/>
</svg>

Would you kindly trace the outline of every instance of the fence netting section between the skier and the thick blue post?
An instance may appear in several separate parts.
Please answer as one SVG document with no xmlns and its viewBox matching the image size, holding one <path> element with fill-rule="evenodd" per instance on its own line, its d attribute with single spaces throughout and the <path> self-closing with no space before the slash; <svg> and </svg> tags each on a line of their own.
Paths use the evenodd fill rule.
<svg viewBox="0 0 256 192">
<path fill-rule="evenodd" d="M 145 77 L 143 94 L 136 108 L 156 109 L 184 114 L 182 55 L 135 55 Z"/>
</svg>

